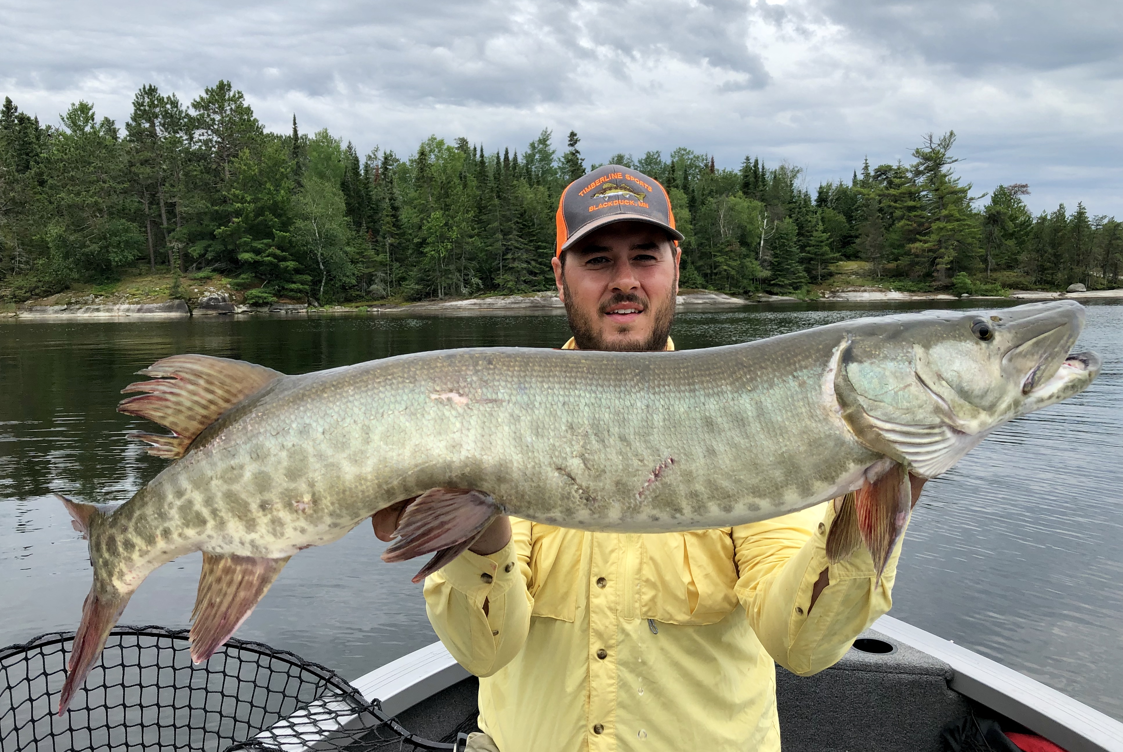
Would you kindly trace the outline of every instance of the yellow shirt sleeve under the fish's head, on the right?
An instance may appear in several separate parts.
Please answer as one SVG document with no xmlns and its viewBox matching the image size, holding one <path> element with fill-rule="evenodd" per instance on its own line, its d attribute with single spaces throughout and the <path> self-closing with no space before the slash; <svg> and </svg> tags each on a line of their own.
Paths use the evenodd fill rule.
<svg viewBox="0 0 1123 752">
<path fill-rule="evenodd" d="M 834 517 L 834 504 L 828 502 L 733 529 L 741 572 L 738 597 L 768 653 L 801 676 L 837 663 L 855 638 L 893 605 L 904 535 L 878 584 L 865 547 L 834 565 L 828 561 L 827 537 Z M 829 584 L 811 608 L 814 585 L 824 569 Z"/>
</svg>

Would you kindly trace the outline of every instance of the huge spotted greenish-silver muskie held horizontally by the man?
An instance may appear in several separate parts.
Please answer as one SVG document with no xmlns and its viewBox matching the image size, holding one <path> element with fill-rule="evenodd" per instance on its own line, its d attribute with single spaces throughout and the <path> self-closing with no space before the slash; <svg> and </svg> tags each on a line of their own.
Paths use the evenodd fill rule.
<svg viewBox="0 0 1123 752">
<path fill-rule="evenodd" d="M 289 558 L 398 501 L 400 561 L 464 551 L 499 514 L 657 533 L 765 520 L 846 495 L 833 561 L 865 543 L 885 567 L 932 478 L 1003 423 L 1084 389 L 1075 302 L 844 321 L 678 352 L 473 348 L 301 376 L 182 355 L 118 410 L 175 461 L 118 510 L 63 499 L 90 541 L 62 713 L 129 596 L 203 552 L 191 654 L 209 658 Z M 851 493 L 855 492 L 855 493 Z"/>
</svg>

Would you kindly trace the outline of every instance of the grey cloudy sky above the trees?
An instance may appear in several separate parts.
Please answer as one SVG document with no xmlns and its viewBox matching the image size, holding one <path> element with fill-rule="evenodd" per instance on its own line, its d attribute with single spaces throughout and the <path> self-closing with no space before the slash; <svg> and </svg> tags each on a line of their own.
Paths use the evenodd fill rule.
<svg viewBox="0 0 1123 752">
<path fill-rule="evenodd" d="M 360 152 L 572 128 L 591 162 L 688 146 L 812 186 L 953 129 L 976 193 L 1123 217 L 1119 0 L 0 0 L 0 95 L 44 122 L 229 79 L 267 127 Z"/>
</svg>

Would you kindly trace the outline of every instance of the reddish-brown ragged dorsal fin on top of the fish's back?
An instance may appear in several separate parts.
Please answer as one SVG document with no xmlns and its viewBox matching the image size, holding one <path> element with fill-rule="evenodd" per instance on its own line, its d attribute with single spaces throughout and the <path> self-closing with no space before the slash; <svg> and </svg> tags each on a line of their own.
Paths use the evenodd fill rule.
<svg viewBox="0 0 1123 752">
<path fill-rule="evenodd" d="M 179 459 L 204 428 L 219 415 L 284 374 L 245 360 L 214 358 L 208 355 L 173 355 L 138 370 L 155 376 L 149 382 L 129 384 L 121 394 L 146 392 L 121 400 L 117 411 L 146 418 L 172 431 L 130 433 L 153 444 L 149 455 Z"/>
</svg>

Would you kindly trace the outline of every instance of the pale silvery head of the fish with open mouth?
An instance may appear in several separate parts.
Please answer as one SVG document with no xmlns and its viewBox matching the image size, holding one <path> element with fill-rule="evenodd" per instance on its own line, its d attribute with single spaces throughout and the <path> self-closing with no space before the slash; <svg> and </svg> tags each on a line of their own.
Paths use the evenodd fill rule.
<svg viewBox="0 0 1123 752">
<path fill-rule="evenodd" d="M 838 410 L 867 447 L 934 477 L 998 425 L 1092 383 L 1099 357 L 1070 352 L 1084 321 L 1075 301 L 883 320 L 840 347 Z"/>
</svg>

